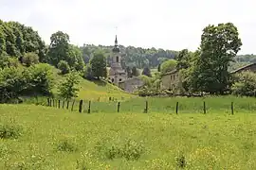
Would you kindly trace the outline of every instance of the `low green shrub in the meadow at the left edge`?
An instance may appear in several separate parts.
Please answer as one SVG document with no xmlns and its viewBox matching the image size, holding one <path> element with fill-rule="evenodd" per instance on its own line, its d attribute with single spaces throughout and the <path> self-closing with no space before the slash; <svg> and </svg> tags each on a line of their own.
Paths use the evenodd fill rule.
<svg viewBox="0 0 256 170">
<path fill-rule="evenodd" d="M 21 128 L 12 125 L 0 125 L 1 139 L 17 139 L 21 135 Z"/>
</svg>

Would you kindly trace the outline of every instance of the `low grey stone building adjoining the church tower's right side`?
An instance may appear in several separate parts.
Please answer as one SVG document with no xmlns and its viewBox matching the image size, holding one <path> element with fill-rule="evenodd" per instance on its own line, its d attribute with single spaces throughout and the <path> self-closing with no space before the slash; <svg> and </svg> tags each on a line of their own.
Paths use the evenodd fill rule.
<svg viewBox="0 0 256 170">
<path fill-rule="evenodd" d="M 119 82 L 119 88 L 128 93 L 136 92 L 137 89 L 143 85 L 144 85 L 143 80 L 138 76 L 134 76 Z"/>
</svg>

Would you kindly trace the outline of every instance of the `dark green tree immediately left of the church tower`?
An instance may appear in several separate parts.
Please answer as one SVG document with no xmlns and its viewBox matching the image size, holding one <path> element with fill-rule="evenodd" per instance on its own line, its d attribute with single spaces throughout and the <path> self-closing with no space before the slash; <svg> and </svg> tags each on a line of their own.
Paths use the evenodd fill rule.
<svg viewBox="0 0 256 170">
<path fill-rule="evenodd" d="M 106 77 L 106 58 L 102 51 L 96 51 L 92 59 L 90 59 L 90 65 L 92 67 L 92 75 L 97 78 Z"/>
</svg>

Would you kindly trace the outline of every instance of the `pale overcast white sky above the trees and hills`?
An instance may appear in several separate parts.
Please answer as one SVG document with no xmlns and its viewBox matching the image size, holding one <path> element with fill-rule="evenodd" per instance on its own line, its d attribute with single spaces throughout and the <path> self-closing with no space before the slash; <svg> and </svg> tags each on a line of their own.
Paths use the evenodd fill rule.
<svg viewBox="0 0 256 170">
<path fill-rule="evenodd" d="M 196 50 L 205 26 L 231 22 L 256 54 L 255 0 L 0 0 L 0 19 L 32 26 L 46 43 L 58 30 L 76 45 Z M 116 29 L 118 27 L 118 29 Z"/>
</svg>

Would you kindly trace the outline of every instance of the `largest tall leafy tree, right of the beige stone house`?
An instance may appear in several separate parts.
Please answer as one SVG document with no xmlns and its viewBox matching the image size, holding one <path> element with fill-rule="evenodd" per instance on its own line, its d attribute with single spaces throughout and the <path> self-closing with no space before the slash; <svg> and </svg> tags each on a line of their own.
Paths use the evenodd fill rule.
<svg viewBox="0 0 256 170">
<path fill-rule="evenodd" d="M 241 45 L 237 27 L 233 24 L 206 26 L 192 71 L 193 89 L 207 93 L 227 92 L 231 85 L 229 63 Z"/>
</svg>

